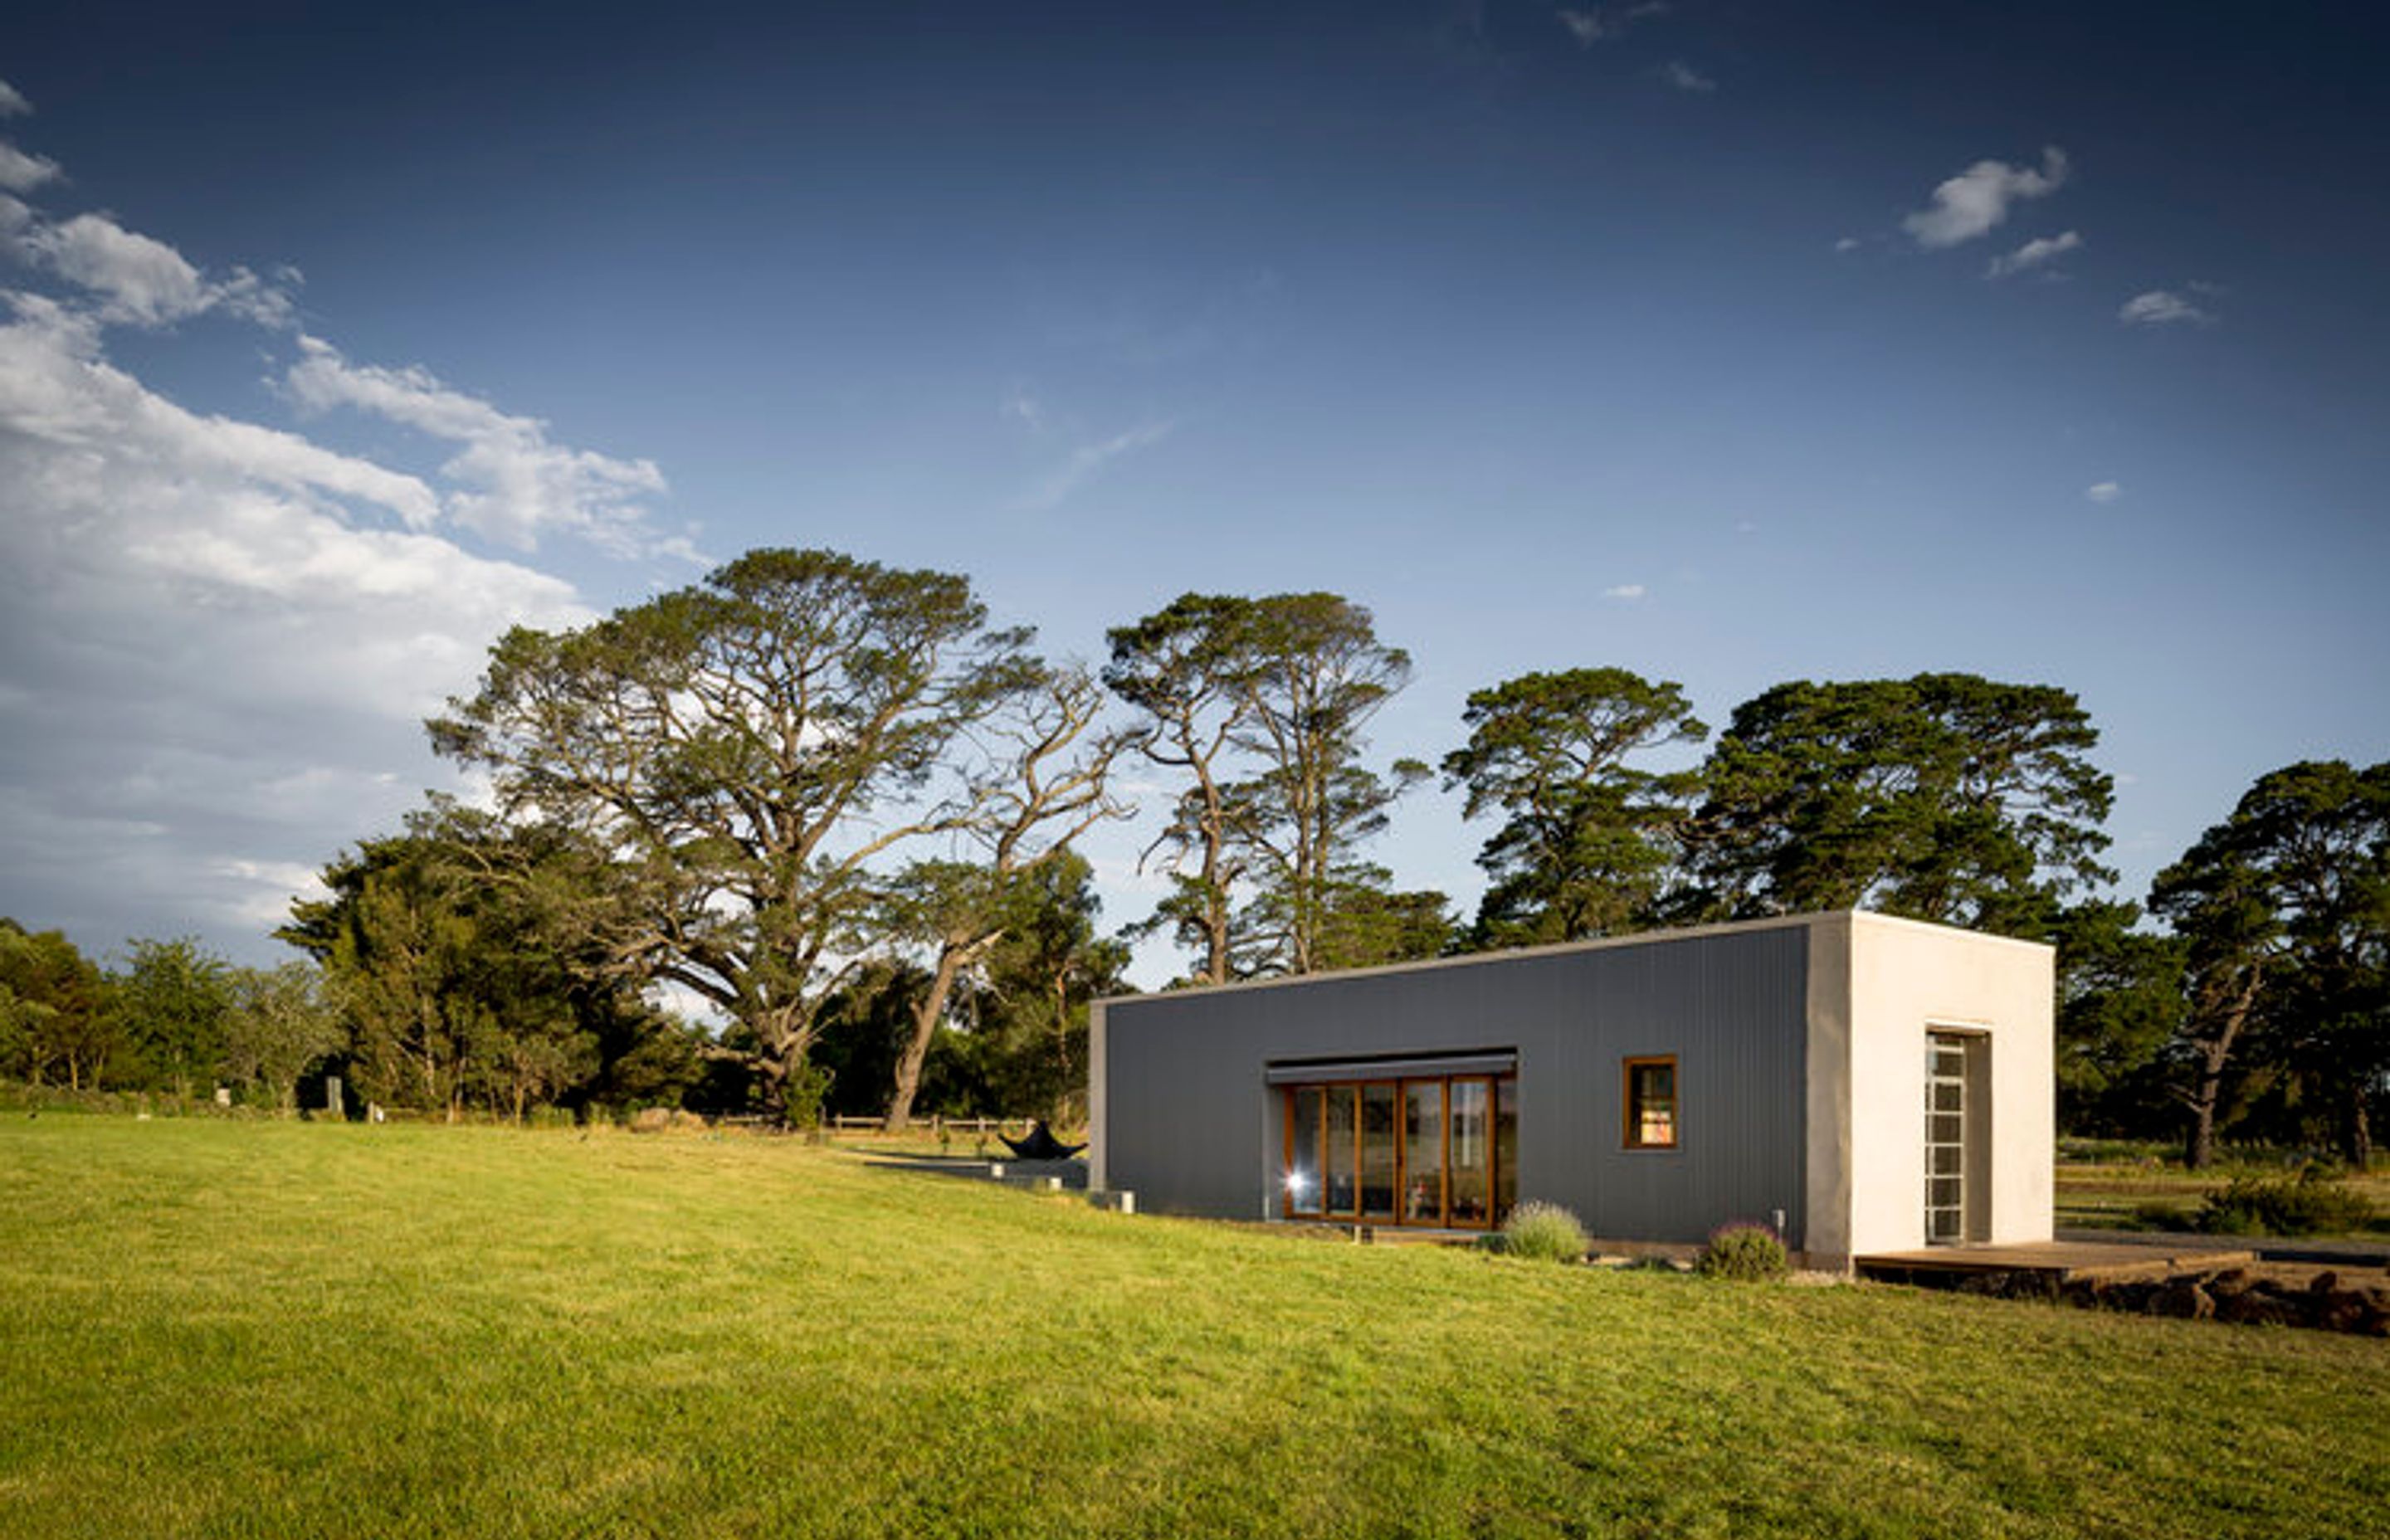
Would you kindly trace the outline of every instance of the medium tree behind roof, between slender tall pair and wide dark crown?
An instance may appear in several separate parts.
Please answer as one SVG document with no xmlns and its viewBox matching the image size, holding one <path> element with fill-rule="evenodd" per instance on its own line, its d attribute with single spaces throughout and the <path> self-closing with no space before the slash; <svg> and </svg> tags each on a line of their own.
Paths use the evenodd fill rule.
<svg viewBox="0 0 2390 1540">
<path fill-rule="evenodd" d="M 1620 667 L 1520 674 L 1472 693 L 1463 722 L 1470 741 L 1444 756 L 1444 784 L 1467 787 L 1463 818 L 1503 813 L 1477 854 L 1491 878 L 1479 937 L 1570 942 L 1649 925 L 1697 777 L 1625 760 L 1709 737 L 1683 686 Z"/>
</svg>

